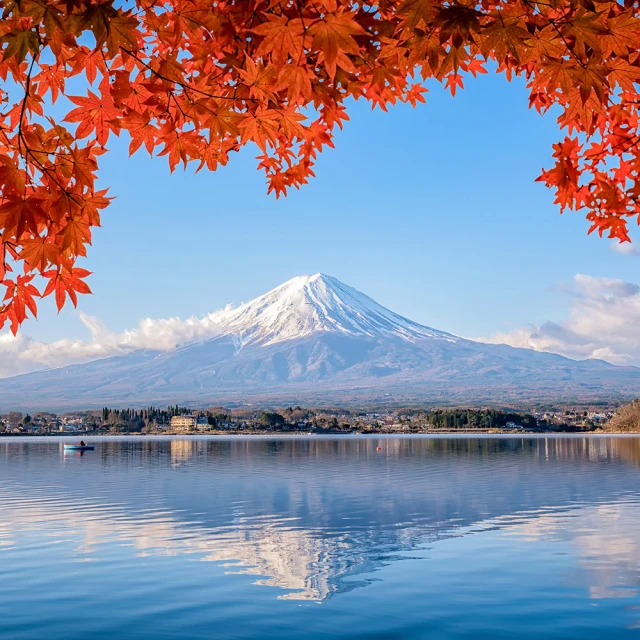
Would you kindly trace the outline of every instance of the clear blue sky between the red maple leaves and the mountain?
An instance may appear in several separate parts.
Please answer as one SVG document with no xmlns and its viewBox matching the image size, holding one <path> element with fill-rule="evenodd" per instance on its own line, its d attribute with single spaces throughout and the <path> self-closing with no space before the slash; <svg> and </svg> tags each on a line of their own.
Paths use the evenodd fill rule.
<svg viewBox="0 0 640 640">
<path fill-rule="evenodd" d="M 177 170 L 112 139 L 100 177 L 117 196 L 84 262 L 79 309 L 119 332 L 144 317 L 202 315 L 295 275 L 324 272 L 414 320 L 488 336 L 568 314 L 558 282 L 583 273 L 638 282 L 638 260 L 559 214 L 535 178 L 561 132 L 527 106 L 522 80 L 469 79 L 452 98 L 389 113 L 354 103 L 316 179 L 266 195 L 247 148 L 215 173 Z M 51 299 L 24 333 L 89 336 Z"/>
</svg>

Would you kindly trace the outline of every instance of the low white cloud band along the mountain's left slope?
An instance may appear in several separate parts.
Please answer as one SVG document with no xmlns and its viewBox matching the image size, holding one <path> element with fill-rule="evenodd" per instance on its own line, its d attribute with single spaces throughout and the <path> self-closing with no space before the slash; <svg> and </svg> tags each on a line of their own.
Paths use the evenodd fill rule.
<svg viewBox="0 0 640 640">
<path fill-rule="evenodd" d="M 110 333 L 97 318 L 80 313 L 80 319 L 91 333 L 90 340 L 64 338 L 46 343 L 22 333 L 16 337 L 0 333 L 0 378 L 124 355 L 136 349 L 168 351 L 215 336 L 219 313 L 186 320 L 145 318 L 137 328 L 122 333 Z"/>
</svg>

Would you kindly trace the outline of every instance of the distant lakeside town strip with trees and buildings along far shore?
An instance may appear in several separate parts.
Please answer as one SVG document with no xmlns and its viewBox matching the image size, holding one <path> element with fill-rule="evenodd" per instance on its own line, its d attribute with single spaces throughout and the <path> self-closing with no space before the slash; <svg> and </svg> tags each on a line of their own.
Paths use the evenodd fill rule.
<svg viewBox="0 0 640 640">
<path fill-rule="evenodd" d="M 303 408 L 113 409 L 0 414 L 0 435 L 232 433 L 518 433 L 606 430 L 612 408 L 363 410 Z"/>
</svg>

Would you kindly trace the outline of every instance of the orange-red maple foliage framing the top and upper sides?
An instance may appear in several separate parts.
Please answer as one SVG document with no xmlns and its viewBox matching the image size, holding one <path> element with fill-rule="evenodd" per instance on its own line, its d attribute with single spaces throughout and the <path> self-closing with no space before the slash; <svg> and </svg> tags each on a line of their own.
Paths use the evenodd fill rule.
<svg viewBox="0 0 640 640">
<path fill-rule="evenodd" d="M 171 170 L 215 170 L 253 142 L 278 197 L 313 176 L 349 99 L 415 106 L 425 81 L 455 95 L 487 62 L 526 78 L 539 112 L 560 107 L 567 135 L 538 180 L 628 241 L 638 13 L 631 0 L 0 0 L 0 329 L 40 297 L 60 309 L 90 293 L 75 262 L 109 204 L 96 175 L 111 136 Z"/>
</svg>

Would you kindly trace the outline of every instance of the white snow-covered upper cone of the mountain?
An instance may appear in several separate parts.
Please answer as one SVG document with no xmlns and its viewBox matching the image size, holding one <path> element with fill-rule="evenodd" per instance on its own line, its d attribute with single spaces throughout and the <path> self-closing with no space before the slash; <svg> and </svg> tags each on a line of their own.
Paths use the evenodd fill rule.
<svg viewBox="0 0 640 640">
<path fill-rule="evenodd" d="M 364 293 L 323 273 L 291 278 L 251 302 L 219 312 L 215 320 L 221 335 L 234 334 L 242 345 L 275 344 L 317 332 L 455 340 L 454 336 L 389 311 Z"/>
</svg>

